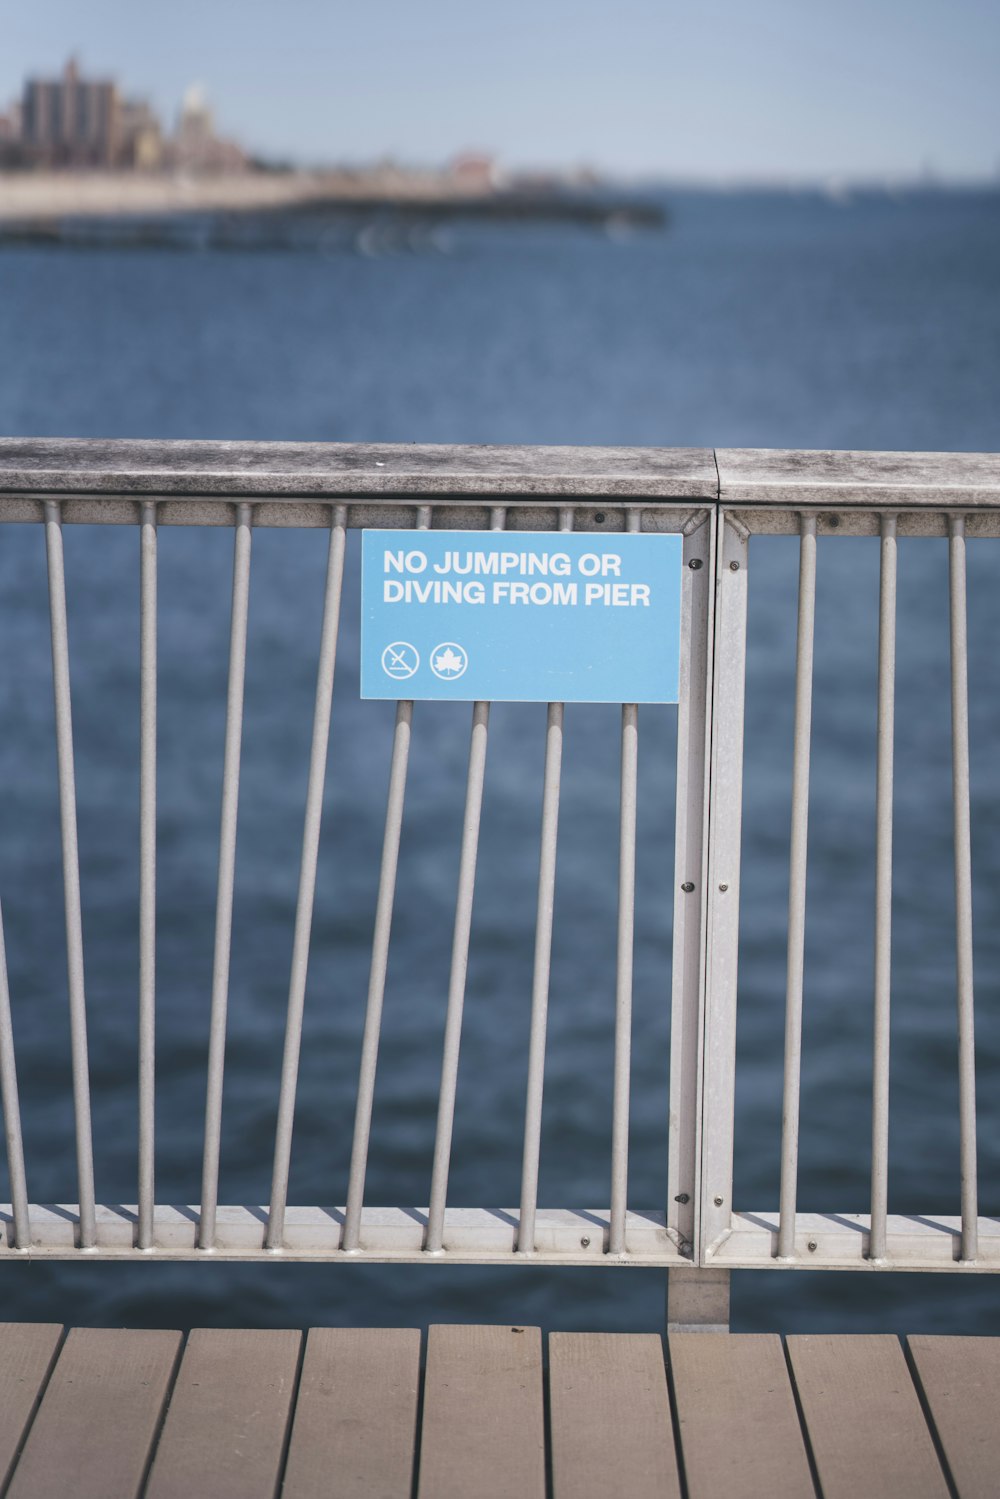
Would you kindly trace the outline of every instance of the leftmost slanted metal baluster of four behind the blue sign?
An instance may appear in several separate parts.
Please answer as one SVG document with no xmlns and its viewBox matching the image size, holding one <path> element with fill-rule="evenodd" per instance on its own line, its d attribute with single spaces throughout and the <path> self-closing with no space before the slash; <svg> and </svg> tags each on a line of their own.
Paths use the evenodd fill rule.
<svg viewBox="0 0 1000 1499">
<path fill-rule="evenodd" d="M 430 505 L 421 505 L 417 511 L 417 531 L 427 531 L 429 528 Z M 403 803 L 406 799 L 406 769 L 409 766 L 409 739 L 412 733 L 412 702 L 399 702 L 396 705 L 393 758 L 388 772 L 388 796 L 385 799 L 385 832 L 382 833 L 382 863 L 378 875 L 378 898 L 375 902 L 375 932 L 372 935 L 372 967 L 369 970 L 367 1004 L 364 1009 L 358 1097 L 354 1106 L 354 1139 L 351 1142 L 351 1168 L 348 1172 L 348 1202 L 343 1216 L 343 1237 L 340 1240 L 342 1249 L 348 1253 L 355 1252 L 361 1243 L 361 1208 L 364 1205 L 367 1150 L 372 1135 L 375 1072 L 378 1069 L 378 1045 L 382 1033 L 382 1004 L 385 1001 L 388 940 L 393 929 L 396 869 L 399 866 L 399 839 L 403 829 Z"/>
</svg>

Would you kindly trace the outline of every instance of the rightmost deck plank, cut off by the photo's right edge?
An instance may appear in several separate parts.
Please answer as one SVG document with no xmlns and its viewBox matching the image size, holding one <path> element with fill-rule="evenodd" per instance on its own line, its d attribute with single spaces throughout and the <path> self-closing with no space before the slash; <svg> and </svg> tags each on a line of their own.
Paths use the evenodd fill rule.
<svg viewBox="0 0 1000 1499">
<path fill-rule="evenodd" d="M 907 1343 L 960 1499 L 993 1499 L 1000 1487 L 1000 1339 Z"/>
</svg>

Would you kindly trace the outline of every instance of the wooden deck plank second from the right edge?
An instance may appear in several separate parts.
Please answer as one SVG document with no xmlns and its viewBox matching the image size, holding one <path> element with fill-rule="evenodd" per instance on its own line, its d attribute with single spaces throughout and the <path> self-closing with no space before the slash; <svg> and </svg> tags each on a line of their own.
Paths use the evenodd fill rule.
<svg viewBox="0 0 1000 1499">
<path fill-rule="evenodd" d="M 823 1499 L 948 1499 L 897 1337 L 799 1336 L 787 1348 Z"/>
</svg>

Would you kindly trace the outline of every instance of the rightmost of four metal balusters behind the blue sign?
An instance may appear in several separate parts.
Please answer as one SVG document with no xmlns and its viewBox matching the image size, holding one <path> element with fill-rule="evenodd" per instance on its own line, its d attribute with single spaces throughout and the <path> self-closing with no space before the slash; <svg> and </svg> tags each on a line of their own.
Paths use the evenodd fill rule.
<svg viewBox="0 0 1000 1499">
<path fill-rule="evenodd" d="M 640 529 L 630 510 L 625 529 Z M 612 1211 L 607 1252 L 625 1253 L 628 1211 L 628 1108 L 631 1096 L 633 961 L 636 935 L 636 809 L 639 706 L 622 703 L 621 800 L 618 817 L 618 959 L 615 977 L 615 1090 L 612 1103 Z"/>
</svg>

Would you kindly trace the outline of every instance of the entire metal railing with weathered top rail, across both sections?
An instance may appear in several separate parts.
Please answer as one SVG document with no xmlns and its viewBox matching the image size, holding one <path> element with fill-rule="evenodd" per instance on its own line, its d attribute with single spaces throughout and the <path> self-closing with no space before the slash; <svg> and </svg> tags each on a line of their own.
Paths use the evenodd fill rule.
<svg viewBox="0 0 1000 1499">
<path fill-rule="evenodd" d="M 10 1256 L 403 1259 L 456 1262 L 637 1264 L 718 1276 L 741 1267 L 1000 1268 L 1000 1229 L 979 1216 L 972 976 L 972 859 L 966 546 L 1000 535 L 1000 460 L 969 454 L 712 453 L 708 450 L 399 448 L 267 444 L 0 442 L 0 522 L 40 525 L 48 562 L 55 736 L 69 959 L 78 1204 L 28 1201 L 13 1027 L 0 926 L 0 1085 L 12 1204 L 1 1252 Z M 84 925 L 70 712 L 70 643 L 63 526 L 133 526 L 139 607 L 139 974 L 138 1202 L 96 1198 Z M 201 1202 L 156 1199 L 156 841 L 157 841 L 157 535 L 165 526 L 225 526 L 234 534 L 229 670 L 219 878 L 214 919 Z M 319 661 L 285 1042 L 276 1103 L 270 1199 L 219 1202 L 226 1009 L 240 800 L 247 603 L 255 531 L 328 532 Z M 316 905 L 324 788 L 348 532 L 354 528 L 675 532 L 684 537 L 682 664 L 678 708 L 669 1121 L 663 1133 L 667 1202 L 630 1210 L 631 1001 L 639 820 L 639 712 L 622 705 L 618 925 L 613 995 L 612 1171 L 603 1207 L 538 1205 L 546 1031 L 556 889 L 562 705 L 549 705 L 543 764 L 537 917 L 525 1076 L 520 1202 L 448 1205 L 463 1001 L 469 964 L 490 705 L 472 705 L 442 1037 L 433 1166 L 426 1207 L 366 1204 L 366 1171 L 385 976 L 406 812 L 412 703 L 400 702 L 391 741 L 370 971 L 343 1207 L 289 1202 L 303 1016 Z M 790 877 L 780 1201 L 736 1211 L 733 1196 L 736 992 L 739 977 L 744 678 L 751 537 L 798 535 Z M 796 1210 L 810 748 L 817 552 L 834 538 L 880 538 L 876 968 L 871 1201 Z M 889 998 L 895 583 L 898 538 L 948 538 L 957 898 L 957 1025 L 961 1183 L 957 1217 L 888 1213 Z M 3 600 L 0 600 L 0 618 Z M 16 791 L 16 788 L 13 788 Z M 0 796 L 10 788 L 0 788 Z M 0 832 L 1 836 L 1 832 Z M 0 890 L 0 898 L 3 892 Z M 664 974 L 666 989 L 666 974 Z M 850 1210 L 850 1211 L 846 1211 Z M 925 1211 L 915 1202 L 912 1211 Z"/>
</svg>

